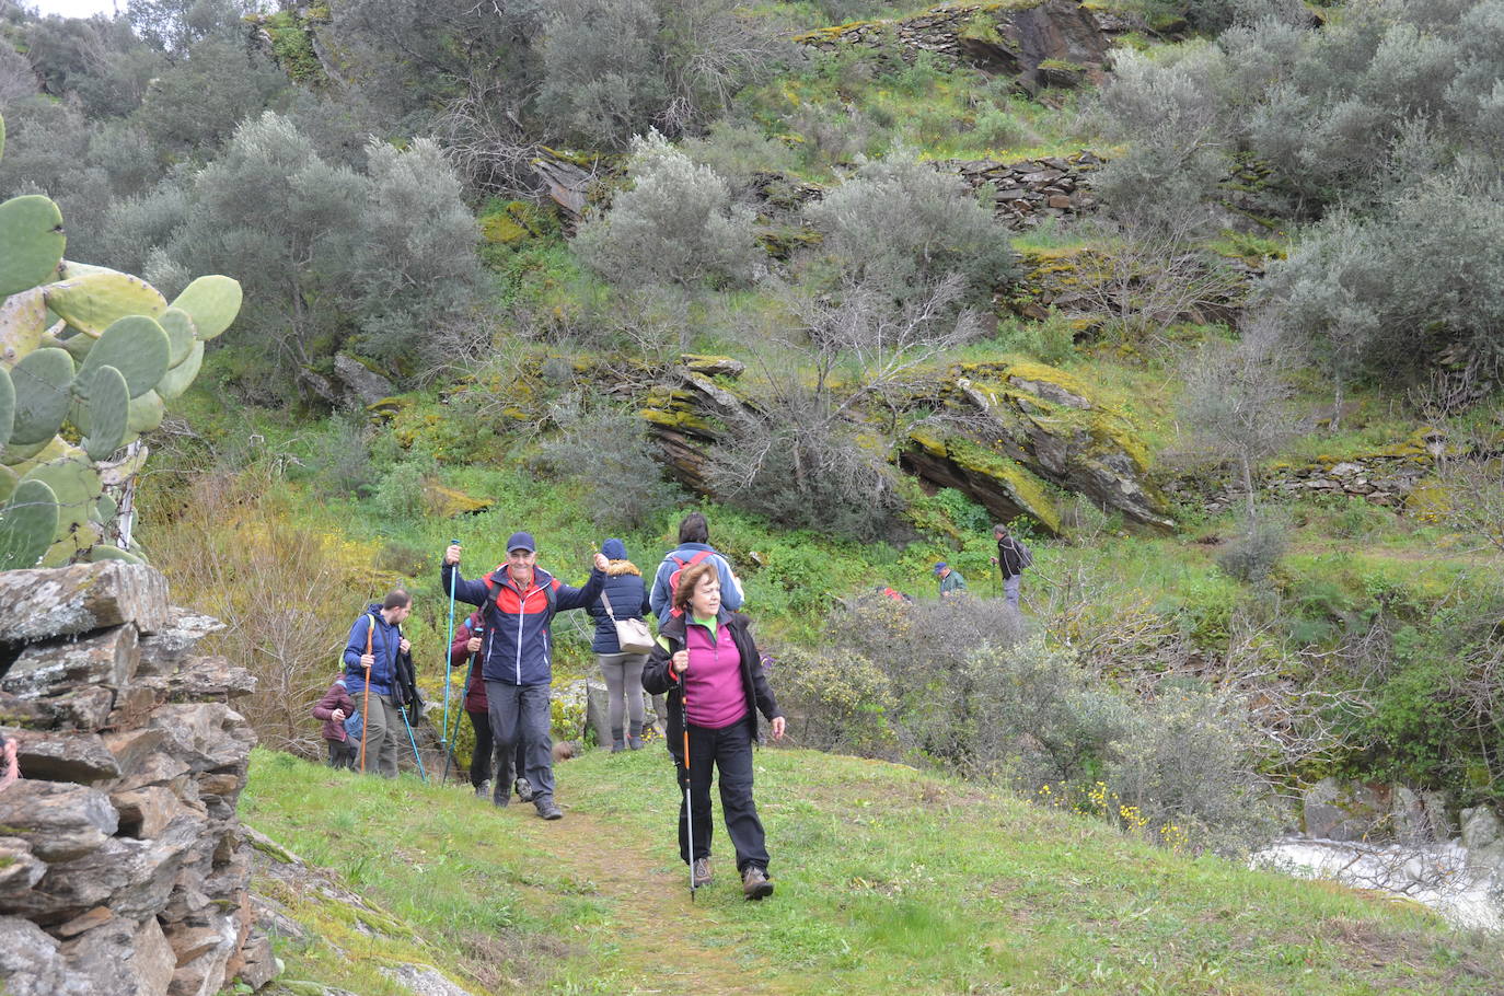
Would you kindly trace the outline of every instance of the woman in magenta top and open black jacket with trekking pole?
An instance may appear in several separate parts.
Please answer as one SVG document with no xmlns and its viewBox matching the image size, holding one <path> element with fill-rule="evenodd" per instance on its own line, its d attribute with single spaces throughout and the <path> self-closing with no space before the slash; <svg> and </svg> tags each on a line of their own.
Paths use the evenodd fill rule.
<svg viewBox="0 0 1504 996">
<path fill-rule="evenodd" d="M 668 692 L 668 749 L 674 755 L 680 791 L 689 787 L 693 841 L 690 812 L 680 802 L 678 856 L 692 867 L 695 888 L 710 885 L 710 779 L 711 767 L 719 769 L 720 809 L 737 852 L 741 894 L 761 900 L 773 894 L 773 883 L 767 876 L 763 821 L 752 800 L 752 743 L 758 710 L 770 721 L 775 740 L 784 736 L 784 713 L 763 673 L 747 617 L 720 603 L 714 564 L 684 569 L 674 590 L 674 608 L 678 612 L 659 626 L 657 645 L 642 671 L 642 688 Z"/>
</svg>

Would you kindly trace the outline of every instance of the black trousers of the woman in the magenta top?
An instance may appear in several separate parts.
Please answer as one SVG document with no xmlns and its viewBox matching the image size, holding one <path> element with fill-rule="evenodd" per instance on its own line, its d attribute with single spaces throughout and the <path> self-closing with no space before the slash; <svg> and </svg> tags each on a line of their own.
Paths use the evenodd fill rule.
<svg viewBox="0 0 1504 996">
<path fill-rule="evenodd" d="M 675 745 L 678 746 L 678 745 Z M 689 855 L 687 814 L 684 812 L 684 758 L 674 755 L 678 776 L 678 856 Z M 767 843 L 763 820 L 752 802 L 752 721 L 743 719 L 720 730 L 689 727 L 689 799 L 695 806 L 695 858 L 710 858 L 710 779 L 711 767 L 720 772 L 720 815 L 737 852 L 737 873 L 747 865 L 767 868 Z"/>
</svg>

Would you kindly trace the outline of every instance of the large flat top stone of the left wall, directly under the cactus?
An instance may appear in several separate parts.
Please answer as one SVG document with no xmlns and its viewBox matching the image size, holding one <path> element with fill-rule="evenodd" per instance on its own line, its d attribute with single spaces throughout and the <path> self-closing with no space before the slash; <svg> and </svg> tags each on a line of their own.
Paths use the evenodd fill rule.
<svg viewBox="0 0 1504 996">
<path fill-rule="evenodd" d="M 0 642 L 35 642 L 135 623 L 168 623 L 167 579 L 146 564 L 108 560 L 0 572 Z"/>
</svg>

